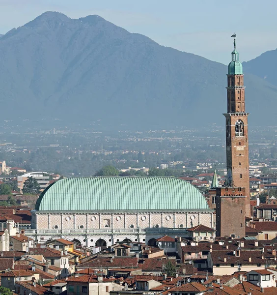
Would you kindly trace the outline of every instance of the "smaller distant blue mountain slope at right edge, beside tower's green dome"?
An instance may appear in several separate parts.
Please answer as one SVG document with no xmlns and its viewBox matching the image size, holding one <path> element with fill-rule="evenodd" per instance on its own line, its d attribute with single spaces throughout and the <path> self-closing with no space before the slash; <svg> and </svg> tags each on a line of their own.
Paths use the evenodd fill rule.
<svg viewBox="0 0 277 295">
<path fill-rule="evenodd" d="M 277 49 L 270 50 L 255 59 L 243 62 L 246 73 L 256 75 L 277 86 Z"/>
</svg>

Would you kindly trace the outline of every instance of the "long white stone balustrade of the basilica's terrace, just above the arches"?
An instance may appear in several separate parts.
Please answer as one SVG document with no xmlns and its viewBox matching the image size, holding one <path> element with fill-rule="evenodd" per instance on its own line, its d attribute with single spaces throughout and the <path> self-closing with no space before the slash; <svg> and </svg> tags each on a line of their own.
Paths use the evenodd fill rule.
<svg viewBox="0 0 277 295">
<path fill-rule="evenodd" d="M 25 230 L 26 236 L 99 236 L 99 235 L 146 235 L 146 234 L 187 234 L 182 228 L 160 228 L 160 229 L 71 229 L 71 230 Z"/>
</svg>

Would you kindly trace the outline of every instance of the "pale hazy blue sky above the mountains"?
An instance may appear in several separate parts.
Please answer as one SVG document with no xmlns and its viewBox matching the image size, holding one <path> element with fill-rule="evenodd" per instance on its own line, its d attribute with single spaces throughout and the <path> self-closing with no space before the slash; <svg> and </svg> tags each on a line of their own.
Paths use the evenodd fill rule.
<svg viewBox="0 0 277 295">
<path fill-rule="evenodd" d="M 0 33 L 45 11 L 71 18 L 97 14 L 161 45 L 225 64 L 234 32 L 241 60 L 277 48 L 276 0 L 0 0 Z"/>
</svg>

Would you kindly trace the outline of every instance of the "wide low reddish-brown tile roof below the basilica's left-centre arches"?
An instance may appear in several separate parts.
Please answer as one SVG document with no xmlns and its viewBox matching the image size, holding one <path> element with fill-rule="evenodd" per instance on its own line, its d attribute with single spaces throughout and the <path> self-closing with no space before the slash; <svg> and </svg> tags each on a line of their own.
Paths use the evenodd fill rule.
<svg viewBox="0 0 277 295">
<path fill-rule="evenodd" d="M 138 266 L 138 258 L 136 257 L 115 257 L 111 259 L 110 257 L 98 257 L 92 259 L 88 262 L 81 263 L 77 268 L 91 267 L 91 268 L 112 268 L 112 267 L 133 267 Z"/>
</svg>

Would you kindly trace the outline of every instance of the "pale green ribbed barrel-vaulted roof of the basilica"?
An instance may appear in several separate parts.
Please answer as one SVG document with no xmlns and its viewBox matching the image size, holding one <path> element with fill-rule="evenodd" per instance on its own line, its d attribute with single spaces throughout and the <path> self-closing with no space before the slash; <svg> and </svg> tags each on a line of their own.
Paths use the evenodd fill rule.
<svg viewBox="0 0 277 295">
<path fill-rule="evenodd" d="M 209 209 L 202 193 L 175 177 L 76 177 L 49 185 L 39 211 Z"/>
</svg>

